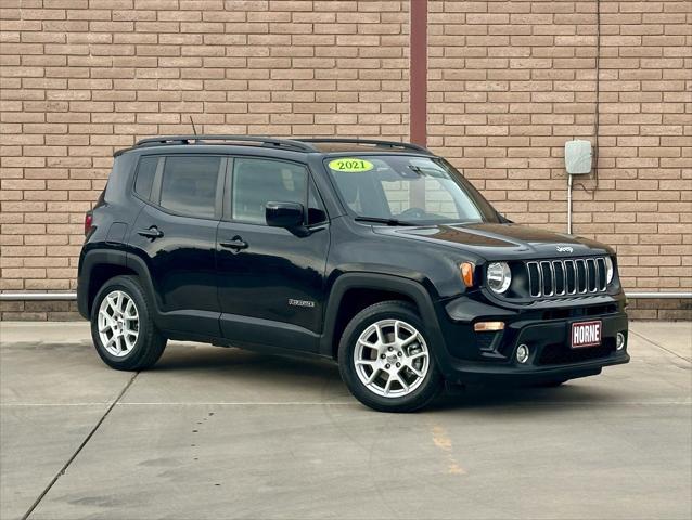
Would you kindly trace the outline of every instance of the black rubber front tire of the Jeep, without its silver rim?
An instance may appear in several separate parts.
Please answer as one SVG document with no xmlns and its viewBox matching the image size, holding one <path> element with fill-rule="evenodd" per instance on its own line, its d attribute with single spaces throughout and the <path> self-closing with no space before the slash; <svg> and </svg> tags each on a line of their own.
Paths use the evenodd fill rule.
<svg viewBox="0 0 692 520">
<path fill-rule="evenodd" d="M 423 381 L 411 393 L 402 396 L 379 395 L 358 377 L 354 364 L 355 349 L 360 335 L 382 320 L 400 320 L 412 325 L 423 337 L 428 349 L 428 369 Z M 338 369 L 342 379 L 358 401 L 380 412 L 413 412 L 426 406 L 443 389 L 443 377 L 435 363 L 427 328 L 415 308 L 403 301 L 384 301 L 360 311 L 349 322 L 338 346 Z"/>
</svg>

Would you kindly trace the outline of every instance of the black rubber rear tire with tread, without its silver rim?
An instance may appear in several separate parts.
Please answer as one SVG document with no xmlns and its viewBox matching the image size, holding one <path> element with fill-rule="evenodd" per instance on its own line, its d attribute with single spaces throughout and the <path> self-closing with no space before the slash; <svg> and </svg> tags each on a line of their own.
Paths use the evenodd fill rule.
<svg viewBox="0 0 692 520">
<path fill-rule="evenodd" d="M 99 309 L 103 299 L 115 290 L 125 292 L 134 302 L 139 314 L 137 340 L 132 349 L 123 356 L 108 352 L 99 334 Z M 154 325 L 152 309 L 153 306 L 136 276 L 115 276 L 103 284 L 91 308 L 91 339 L 105 364 L 118 370 L 143 370 L 158 361 L 166 348 L 166 338 Z"/>
</svg>

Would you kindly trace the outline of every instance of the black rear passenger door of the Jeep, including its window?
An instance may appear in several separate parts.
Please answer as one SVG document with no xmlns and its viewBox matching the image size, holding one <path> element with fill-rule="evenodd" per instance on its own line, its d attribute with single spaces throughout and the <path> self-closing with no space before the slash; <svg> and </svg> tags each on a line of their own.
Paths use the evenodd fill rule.
<svg viewBox="0 0 692 520">
<path fill-rule="evenodd" d="M 220 337 L 216 192 L 222 192 L 225 167 L 220 157 L 162 157 L 148 188 L 149 204 L 137 218 L 129 244 L 148 264 L 163 328 Z"/>
</svg>

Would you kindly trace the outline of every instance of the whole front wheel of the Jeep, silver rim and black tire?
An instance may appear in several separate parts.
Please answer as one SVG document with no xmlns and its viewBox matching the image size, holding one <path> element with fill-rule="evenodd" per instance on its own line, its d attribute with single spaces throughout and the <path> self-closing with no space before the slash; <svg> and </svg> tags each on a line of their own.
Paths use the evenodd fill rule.
<svg viewBox="0 0 692 520">
<path fill-rule="evenodd" d="M 412 412 L 441 390 L 443 378 L 413 306 L 386 301 L 359 312 L 338 347 L 342 379 L 361 403 L 382 412 Z"/>
</svg>

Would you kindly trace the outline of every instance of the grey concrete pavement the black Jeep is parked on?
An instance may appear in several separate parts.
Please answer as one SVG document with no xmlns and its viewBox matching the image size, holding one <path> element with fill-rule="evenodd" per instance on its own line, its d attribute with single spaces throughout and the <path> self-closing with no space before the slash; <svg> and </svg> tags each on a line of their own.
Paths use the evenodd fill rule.
<svg viewBox="0 0 692 520">
<path fill-rule="evenodd" d="M 86 323 L 3 322 L 0 518 L 689 519 L 692 324 L 631 330 L 600 376 L 388 415 L 329 362 L 170 342 L 120 373 Z"/>
</svg>

